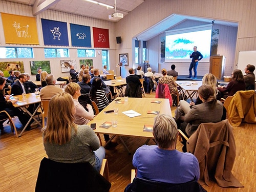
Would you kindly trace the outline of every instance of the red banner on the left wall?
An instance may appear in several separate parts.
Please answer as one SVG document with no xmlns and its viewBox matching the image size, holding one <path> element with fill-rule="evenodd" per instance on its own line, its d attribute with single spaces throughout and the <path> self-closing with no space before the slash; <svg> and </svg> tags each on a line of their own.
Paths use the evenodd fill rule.
<svg viewBox="0 0 256 192">
<path fill-rule="evenodd" d="M 94 48 L 110 48 L 109 30 L 93 27 Z"/>
</svg>

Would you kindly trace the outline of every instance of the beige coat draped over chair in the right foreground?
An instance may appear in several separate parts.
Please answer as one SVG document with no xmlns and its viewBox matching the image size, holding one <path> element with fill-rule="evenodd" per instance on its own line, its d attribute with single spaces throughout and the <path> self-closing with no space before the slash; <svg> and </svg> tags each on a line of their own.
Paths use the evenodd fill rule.
<svg viewBox="0 0 256 192">
<path fill-rule="evenodd" d="M 221 187 L 243 187 L 232 175 L 236 143 L 228 120 L 201 123 L 187 140 L 187 152 L 194 154 L 200 167 L 200 180 L 209 185 L 215 177 Z"/>
</svg>

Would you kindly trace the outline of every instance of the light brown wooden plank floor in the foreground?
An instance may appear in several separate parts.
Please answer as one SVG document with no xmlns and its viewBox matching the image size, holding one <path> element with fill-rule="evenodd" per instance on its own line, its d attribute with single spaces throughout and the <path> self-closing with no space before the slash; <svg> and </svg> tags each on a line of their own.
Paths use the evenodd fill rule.
<svg viewBox="0 0 256 192">
<path fill-rule="evenodd" d="M 154 97 L 155 95 L 146 95 Z M 172 108 L 174 115 L 175 107 Z M 21 126 L 15 119 L 15 124 Z M 256 125 L 242 124 L 234 127 L 237 145 L 237 156 L 233 166 L 233 175 L 245 186 L 244 188 L 221 188 L 214 181 L 210 186 L 203 186 L 207 191 L 256 191 Z M 19 130 L 20 132 L 21 130 Z M 114 150 L 106 150 L 109 162 L 111 191 L 123 191 L 130 183 L 133 154 L 144 144 L 145 139 L 123 137 L 132 155 L 127 154 L 118 138 L 118 146 Z M 103 137 L 102 137 L 102 142 Z M 155 144 L 152 140 L 148 144 Z M 177 142 L 177 150 L 182 145 Z M 40 161 L 46 157 L 40 127 L 26 131 L 22 137 L 16 138 L 10 133 L 9 124 L 0 134 L 0 191 L 34 191 Z"/>
</svg>

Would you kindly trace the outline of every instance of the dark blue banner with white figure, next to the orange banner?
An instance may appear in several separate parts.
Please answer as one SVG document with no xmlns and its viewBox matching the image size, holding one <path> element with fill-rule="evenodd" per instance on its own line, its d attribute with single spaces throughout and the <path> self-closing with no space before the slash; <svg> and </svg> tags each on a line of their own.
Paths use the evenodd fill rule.
<svg viewBox="0 0 256 192">
<path fill-rule="evenodd" d="M 44 44 L 50 46 L 69 46 L 67 23 L 41 18 Z"/>
</svg>

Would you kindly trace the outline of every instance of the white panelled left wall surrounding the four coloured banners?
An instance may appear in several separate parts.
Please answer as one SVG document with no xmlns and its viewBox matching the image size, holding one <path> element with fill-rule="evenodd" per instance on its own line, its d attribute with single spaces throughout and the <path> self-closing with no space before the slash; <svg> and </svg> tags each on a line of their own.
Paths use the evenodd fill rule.
<svg viewBox="0 0 256 192">
<path fill-rule="evenodd" d="M 32 15 L 32 7 L 28 5 L 23 5 L 19 3 L 14 2 L 6 2 L 6 1 L 0 1 L 0 12 L 3 13 L 10 13 L 10 14 L 16 14 L 16 15 L 24 15 L 24 16 L 31 16 Z M 1 17 L 0 17 L 1 18 Z M 33 47 L 34 52 L 34 58 L 33 59 L 0 59 L 0 61 L 23 61 L 24 62 L 24 69 L 25 72 L 31 73 L 30 71 L 30 61 L 32 60 L 50 60 L 50 66 L 51 66 L 51 74 L 53 74 L 56 78 L 61 76 L 70 76 L 69 72 L 62 73 L 60 68 L 60 60 L 69 60 L 73 59 L 76 60 L 77 66 L 79 67 L 79 59 L 93 59 L 93 65 L 95 68 L 102 69 L 102 55 L 97 54 L 96 51 L 96 57 L 94 58 L 78 58 L 77 57 L 77 51 L 76 49 L 78 47 L 71 47 L 71 35 L 70 35 L 70 23 L 72 24 L 78 24 L 78 25 L 84 25 L 84 26 L 90 26 L 91 27 L 91 39 L 92 39 L 92 48 L 79 48 L 79 49 L 94 49 L 93 48 L 93 31 L 92 27 L 98 27 L 98 28 L 104 28 L 109 29 L 109 37 L 110 37 L 110 49 L 109 49 L 109 56 L 110 56 L 110 68 L 115 70 L 116 63 L 116 36 L 115 36 L 115 26 L 113 22 L 108 22 L 105 20 L 95 19 L 95 18 L 89 18 L 84 17 L 80 15 L 74 15 L 70 13 L 64 13 L 60 11 L 53 11 L 53 10 L 46 10 L 36 17 L 36 23 L 37 23 L 37 32 L 38 32 L 38 39 L 39 39 L 39 45 L 10 45 L 5 44 L 5 37 L 4 37 L 4 30 L 2 25 L 2 18 L 0 19 L 0 42 L 3 47 Z M 50 19 L 50 20 L 57 20 L 60 22 L 67 22 L 68 27 L 68 36 L 69 36 L 69 47 L 63 47 L 63 46 L 44 46 L 44 40 L 42 37 L 42 28 L 41 28 L 41 18 Z M 44 55 L 44 48 L 68 48 L 70 57 L 69 58 L 45 58 Z M 100 50 L 101 49 L 97 49 Z M 35 79 L 35 77 L 32 76 L 32 80 Z"/>
</svg>

